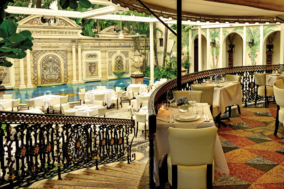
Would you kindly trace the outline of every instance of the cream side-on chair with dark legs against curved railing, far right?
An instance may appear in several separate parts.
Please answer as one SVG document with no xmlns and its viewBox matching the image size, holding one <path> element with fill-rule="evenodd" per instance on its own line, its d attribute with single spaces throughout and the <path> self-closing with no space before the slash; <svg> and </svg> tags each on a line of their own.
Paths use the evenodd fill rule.
<svg viewBox="0 0 284 189">
<path fill-rule="evenodd" d="M 255 80 L 255 84 L 256 84 L 256 93 L 255 93 L 254 105 L 256 106 L 258 96 L 264 96 L 265 108 L 267 108 L 268 97 L 274 96 L 273 87 L 272 86 L 266 86 L 266 73 L 254 72 L 254 80 Z"/>
</svg>

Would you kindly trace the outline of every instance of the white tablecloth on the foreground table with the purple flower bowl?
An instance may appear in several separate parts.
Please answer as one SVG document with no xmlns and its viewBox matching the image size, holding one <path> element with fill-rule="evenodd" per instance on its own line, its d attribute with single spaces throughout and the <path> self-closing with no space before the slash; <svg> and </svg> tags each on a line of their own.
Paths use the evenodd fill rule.
<svg viewBox="0 0 284 189">
<path fill-rule="evenodd" d="M 215 126 L 213 117 L 211 115 L 209 106 L 207 103 L 196 103 L 202 104 L 204 109 L 204 115 L 208 114 L 210 121 L 204 122 L 203 115 L 196 121 L 178 121 L 174 119 L 172 123 L 172 118 L 170 122 L 167 122 L 167 115 L 178 115 L 182 112 L 178 111 L 177 107 L 172 107 L 174 111 L 165 111 L 164 113 L 157 114 L 156 122 L 156 137 L 154 139 L 154 181 L 156 186 L 159 186 L 159 162 L 162 159 L 162 156 L 167 154 L 170 151 L 169 139 L 167 130 L 169 127 L 182 128 L 182 129 L 200 129 L 205 127 Z M 190 108 L 191 109 L 191 108 Z M 224 173 L 226 176 L 230 174 L 227 161 L 219 140 L 218 135 L 216 136 L 215 149 L 214 149 L 214 163 L 215 170 Z"/>
</svg>

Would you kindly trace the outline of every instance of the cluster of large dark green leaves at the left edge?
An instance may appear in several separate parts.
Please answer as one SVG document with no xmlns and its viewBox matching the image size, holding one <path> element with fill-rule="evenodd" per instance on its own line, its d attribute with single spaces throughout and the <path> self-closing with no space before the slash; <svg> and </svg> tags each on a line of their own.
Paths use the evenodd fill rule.
<svg viewBox="0 0 284 189">
<path fill-rule="evenodd" d="M 0 25 L 0 66 L 11 67 L 6 57 L 22 59 L 27 55 L 25 50 L 32 50 L 32 33 L 28 30 L 17 33 L 17 26 L 12 20 L 4 20 Z"/>
</svg>

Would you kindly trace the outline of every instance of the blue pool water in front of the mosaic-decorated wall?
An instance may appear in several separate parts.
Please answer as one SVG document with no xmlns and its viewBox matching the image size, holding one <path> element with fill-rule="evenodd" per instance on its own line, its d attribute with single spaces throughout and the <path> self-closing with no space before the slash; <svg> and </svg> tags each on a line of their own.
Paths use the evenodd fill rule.
<svg viewBox="0 0 284 189">
<path fill-rule="evenodd" d="M 131 84 L 131 78 L 121 78 L 115 80 L 104 80 L 104 81 L 92 81 L 82 84 L 72 85 L 70 83 L 64 83 L 62 85 L 55 86 L 38 86 L 30 89 L 7 89 L 5 94 L 13 94 L 13 98 L 21 98 L 20 103 L 25 104 L 25 99 L 31 99 L 38 96 L 43 96 L 43 92 L 49 94 L 51 91 L 54 95 L 68 95 L 68 102 L 80 101 L 78 92 L 80 89 L 85 88 L 86 91 L 92 90 L 92 87 L 96 86 L 106 86 L 108 89 L 115 90 L 115 87 L 121 87 L 124 91 L 125 87 L 128 87 Z M 144 84 L 149 85 L 149 79 L 144 78 Z"/>
</svg>

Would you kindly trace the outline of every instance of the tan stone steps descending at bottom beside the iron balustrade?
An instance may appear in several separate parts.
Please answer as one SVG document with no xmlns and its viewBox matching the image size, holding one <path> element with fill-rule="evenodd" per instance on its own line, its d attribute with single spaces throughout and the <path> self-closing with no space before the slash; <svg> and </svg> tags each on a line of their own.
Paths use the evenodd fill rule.
<svg viewBox="0 0 284 189">
<path fill-rule="evenodd" d="M 44 179 L 33 183 L 29 188 L 64 188 L 64 189 L 148 189 L 149 165 L 139 161 L 115 162 L 90 169 L 80 169 L 61 175 L 62 180 Z"/>
</svg>

